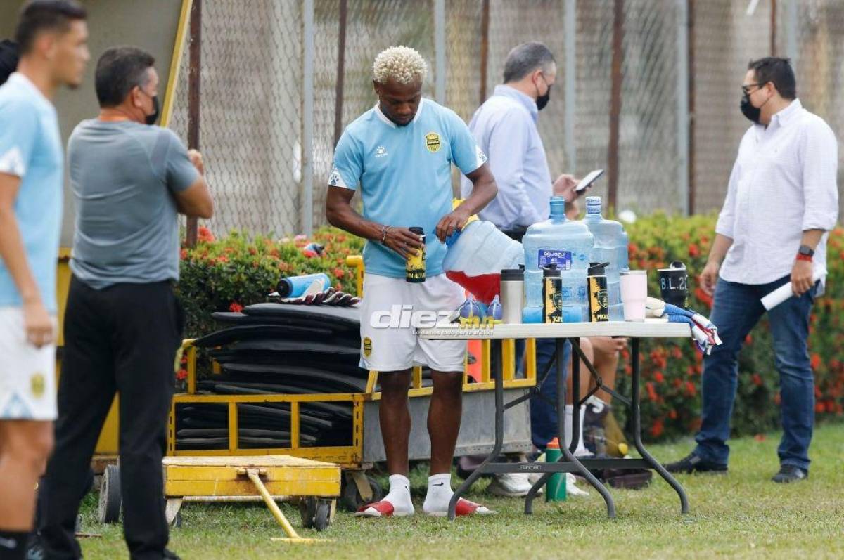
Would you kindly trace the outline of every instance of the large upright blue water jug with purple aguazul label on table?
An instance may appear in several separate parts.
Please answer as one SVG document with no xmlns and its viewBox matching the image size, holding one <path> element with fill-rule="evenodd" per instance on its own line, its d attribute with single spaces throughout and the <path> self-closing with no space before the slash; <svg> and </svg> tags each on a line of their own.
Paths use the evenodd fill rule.
<svg viewBox="0 0 844 560">
<path fill-rule="evenodd" d="M 543 268 L 560 269 L 564 323 L 588 320 L 586 277 L 592 234 L 581 222 L 565 219 L 565 198 L 551 198 L 551 217 L 527 228 L 522 239 L 525 251 L 525 323 L 542 322 Z"/>
</svg>

